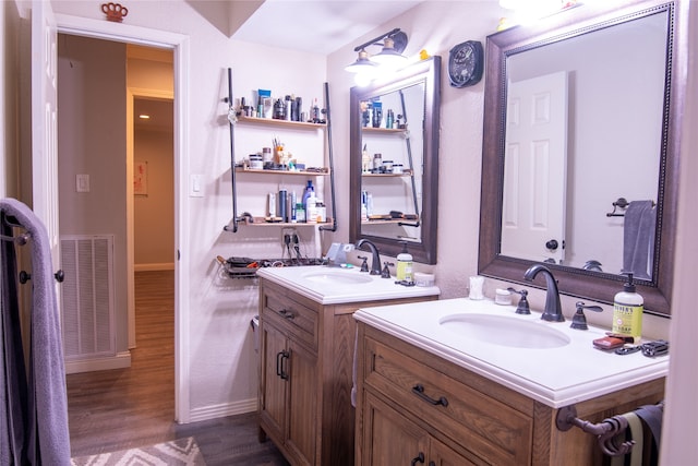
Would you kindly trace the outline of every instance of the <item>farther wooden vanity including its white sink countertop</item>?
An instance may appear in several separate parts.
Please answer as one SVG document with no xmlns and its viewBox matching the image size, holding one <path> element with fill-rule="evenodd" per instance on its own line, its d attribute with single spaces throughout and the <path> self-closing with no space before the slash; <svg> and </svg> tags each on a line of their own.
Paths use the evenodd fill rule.
<svg viewBox="0 0 698 466">
<path fill-rule="evenodd" d="M 352 314 L 436 300 L 438 288 L 404 287 L 358 268 L 269 267 L 257 274 L 261 438 L 270 438 L 292 465 L 353 465 Z"/>
</svg>

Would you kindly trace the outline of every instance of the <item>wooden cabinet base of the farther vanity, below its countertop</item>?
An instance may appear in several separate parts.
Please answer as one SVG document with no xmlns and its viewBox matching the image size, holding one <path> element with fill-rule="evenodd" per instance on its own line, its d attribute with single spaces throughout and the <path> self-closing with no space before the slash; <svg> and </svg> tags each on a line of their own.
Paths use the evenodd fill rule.
<svg viewBox="0 0 698 466">
<path fill-rule="evenodd" d="M 352 313 L 433 299 L 437 296 L 321 304 L 261 278 L 261 435 L 292 465 L 353 465 Z"/>
</svg>

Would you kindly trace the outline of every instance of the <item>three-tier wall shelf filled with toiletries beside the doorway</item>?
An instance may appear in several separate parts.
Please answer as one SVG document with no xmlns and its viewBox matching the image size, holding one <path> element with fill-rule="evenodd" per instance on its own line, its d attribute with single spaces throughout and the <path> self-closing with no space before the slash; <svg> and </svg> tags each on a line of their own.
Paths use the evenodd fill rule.
<svg viewBox="0 0 698 466">
<path fill-rule="evenodd" d="M 244 96 L 233 99 L 228 69 L 232 219 L 224 230 L 303 225 L 337 229 L 327 83 L 324 96 L 325 107 L 315 98 L 309 113 L 301 111 L 300 97 L 274 99 L 267 89 L 255 93 L 256 107 L 249 106 Z M 236 151 L 244 151 L 237 160 Z M 308 187 L 312 202 L 303 195 Z"/>
</svg>

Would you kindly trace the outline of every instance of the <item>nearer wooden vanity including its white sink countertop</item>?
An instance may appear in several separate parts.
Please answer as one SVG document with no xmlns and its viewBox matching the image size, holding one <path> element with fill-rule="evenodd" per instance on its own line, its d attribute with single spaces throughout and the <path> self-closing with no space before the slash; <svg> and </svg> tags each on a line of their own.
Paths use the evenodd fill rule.
<svg viewBox="0 0 698 466">
<path fill-rule="evenodd" d="M 600 422 L 663 398 L 667 357 L 594 349 L 600 328 L 468 299 L 354 316 L 357 465 L 601 465 L 595 435 L 557 429 L 561 408 Z"/>
</svg>

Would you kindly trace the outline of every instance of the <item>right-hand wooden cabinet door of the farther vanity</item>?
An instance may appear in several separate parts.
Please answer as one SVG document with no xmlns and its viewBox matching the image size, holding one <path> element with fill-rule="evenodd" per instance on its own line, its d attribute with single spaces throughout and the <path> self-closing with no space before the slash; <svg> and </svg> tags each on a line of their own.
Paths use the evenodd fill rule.
<svg viewBox="0 0 698 466">
<path fill-rule="evenodd" d="M 315 464 L 317 439 L 317 357 L 303 346 L 289 340 L 288 437 L 287 446 L 301 464 Z"/>
</svg>

